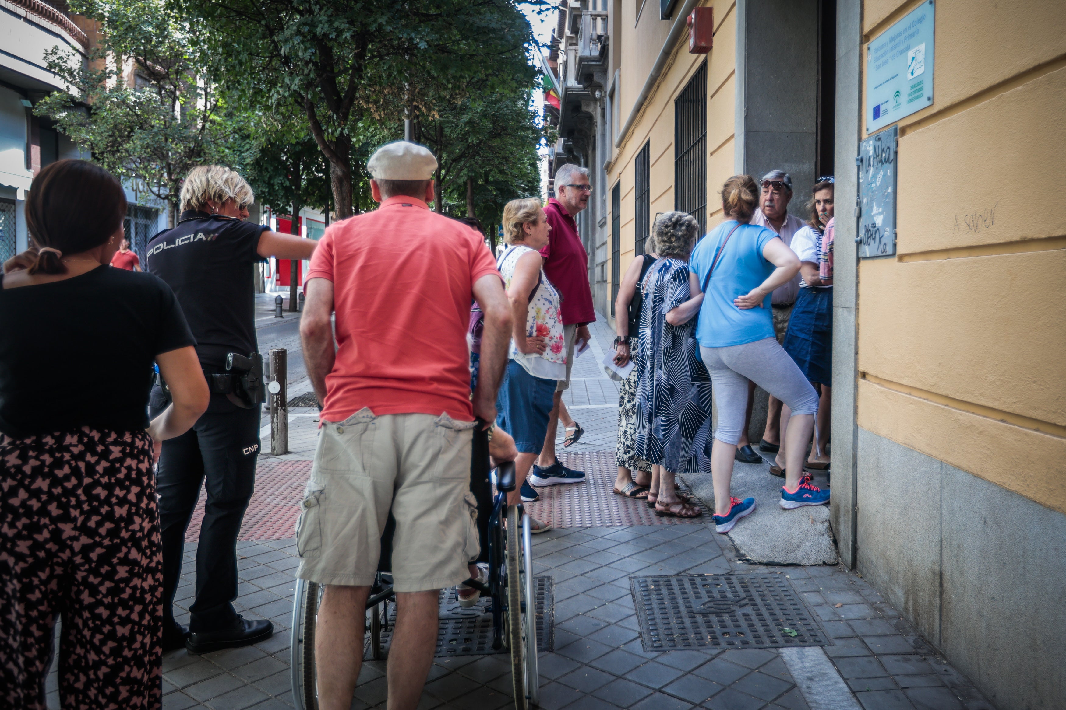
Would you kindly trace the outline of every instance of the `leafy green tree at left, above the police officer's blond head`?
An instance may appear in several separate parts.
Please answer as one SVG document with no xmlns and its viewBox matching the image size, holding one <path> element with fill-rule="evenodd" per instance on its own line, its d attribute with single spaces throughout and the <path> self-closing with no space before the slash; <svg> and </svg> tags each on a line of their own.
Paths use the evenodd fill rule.
<svg viewBox="0 0 1066 710">
<path fill-rule="evenodd" d="M 215 43 L 164 0 L 72 0 L 70 10 L 102 21 L 99 45 L 84 64 L 65 57 L 72 50 L 50 50 L 48 68 L 70 90 L 34 110 L 95 162 L 167 202 L 173 226 L 189 170 L 212 162 L 237 168 L 251 158 L 219 89 Z"/>
</svg>

